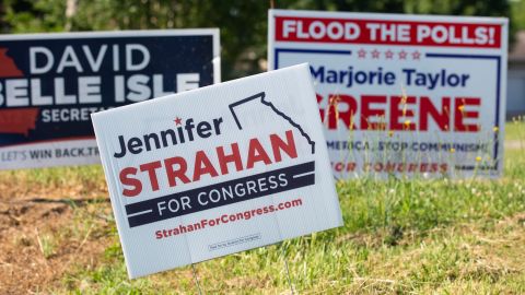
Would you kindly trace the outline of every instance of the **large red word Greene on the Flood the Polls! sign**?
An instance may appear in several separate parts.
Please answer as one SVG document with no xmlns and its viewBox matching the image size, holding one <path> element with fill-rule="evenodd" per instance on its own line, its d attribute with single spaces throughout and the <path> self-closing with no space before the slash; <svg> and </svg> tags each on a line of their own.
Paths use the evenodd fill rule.
<svg viewBox="0 0 525 295">
<path fill-rule="evenodd" d="M 407 96 L 406 101 L 398 95 L 361 95 L 359 101 L 341 94 L 337 96 L 330 94 L 328 97 L 330 98 L 328 109 L 320 111 L 325 115 L 324 122 L 329 130 L 338 129 L 340 119 L 349 130 L 386 130 L 388 128 L 388 130 L 428 131 L 431 121 L 434 121 L 441 131 L 477 132 L 480 130 L 479 123 L 465 122 L 466 119 L 479 119 L 479 110 L 472 110 L 474 106 L 480 106 L 479 97 L 443 96 L 440 99 L 432 99 L 429 96 Z M 322 99 L 323 97 L 317 95 L 317 102 Z M 339 110 L 341 104 L 343 111 Z M 417 111 L 416 104 L 418 104 Z M 415 106 L 408 108 L 408 105 Z M 453 105 L 454 111 L 451 109 Z M 361 115 L 357 123 L 354 111 L 359 108 L 361 108 Z M 385 118 L 386 113 L 388 113 L 387 118 Z M 451 128 L 453 117 L 454 128 Z"/>
</svg>

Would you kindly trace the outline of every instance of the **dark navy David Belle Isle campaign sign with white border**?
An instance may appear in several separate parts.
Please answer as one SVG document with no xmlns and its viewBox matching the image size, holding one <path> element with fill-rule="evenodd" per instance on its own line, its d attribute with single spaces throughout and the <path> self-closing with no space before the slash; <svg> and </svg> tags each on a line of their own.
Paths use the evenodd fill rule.
<svg viewBox="0 0 525 295">
<path fill-rule="evenodd" d="M 0 169 L 100 163 L 91 113 L 220 79 L 217 28 L 0 36 Z"/>
</svg>

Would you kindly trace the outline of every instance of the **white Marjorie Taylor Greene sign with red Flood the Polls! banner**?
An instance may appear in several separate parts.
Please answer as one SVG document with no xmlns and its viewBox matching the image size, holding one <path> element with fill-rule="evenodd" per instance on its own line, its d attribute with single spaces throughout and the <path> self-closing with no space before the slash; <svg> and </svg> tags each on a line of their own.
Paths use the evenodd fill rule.
<svg viewBox="0 0 525 295">
<path fill-rule="evenodd" d="M 269 68 L 310 62 L 332 172 L 502 170 L 508 20 L 269 12 Z"/>
</svg>

